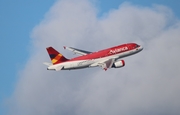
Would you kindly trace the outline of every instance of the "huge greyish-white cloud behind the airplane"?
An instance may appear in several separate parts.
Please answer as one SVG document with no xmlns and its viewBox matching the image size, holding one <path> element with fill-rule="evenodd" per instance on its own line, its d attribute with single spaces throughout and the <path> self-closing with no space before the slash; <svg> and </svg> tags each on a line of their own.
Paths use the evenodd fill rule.
<svg viewBox="0 0 180 115">
<path fill-rule="evenodd" d="M 32 33 L 32 54 L 17 84 L 11 114 L 180 114 L 180 21 L 160 5 L 124 3 L 97 18 L 87 0 L 62 0 Z M 144 50 L 125 58 L 126 66 L 47 71 L 45 47 L 100 50 L 137 42 Z"/>
</svg>

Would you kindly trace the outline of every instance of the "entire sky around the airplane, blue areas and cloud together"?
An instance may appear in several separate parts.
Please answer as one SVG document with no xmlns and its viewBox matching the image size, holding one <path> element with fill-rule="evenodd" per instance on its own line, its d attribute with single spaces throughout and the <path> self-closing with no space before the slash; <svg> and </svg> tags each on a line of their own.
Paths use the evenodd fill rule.
<svg viewBox="0 0 180 115">
<path fill-rule="evenodd" d="M 0 1 L 0 114 L 180 114 L 180 1 Z M 51 72 L 45 51 L 137 42 L 126 66 Z M 167 53 L 168 52 L 168 53 Z M 5 60 L 3 60 L 5 59 Z"/>
</svg>

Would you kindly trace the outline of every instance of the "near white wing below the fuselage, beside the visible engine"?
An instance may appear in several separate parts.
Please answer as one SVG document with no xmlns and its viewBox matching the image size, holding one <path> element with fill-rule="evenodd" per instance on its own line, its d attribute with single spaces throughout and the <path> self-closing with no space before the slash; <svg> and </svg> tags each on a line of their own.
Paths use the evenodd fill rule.
<svg viewBox="0 0 180 115">
<path fill-rule="evenodd" d="M 108 68 L 112 67 L 114 62 L 115 62 L 115 59 L 112 58 L 112 59 L 103 60 L 98 63 L 94 63 L 91 66 L 100 66 L 102 69 L 104 69 L 106 71 Z"/>
</svg>

